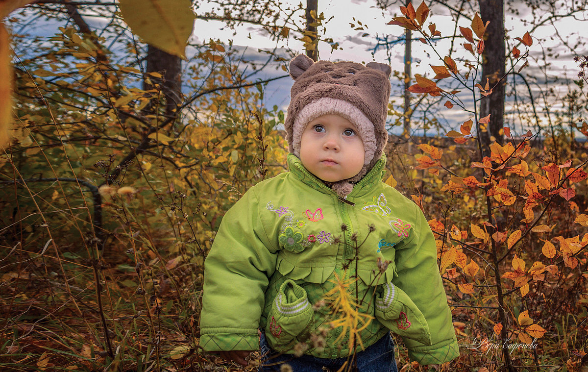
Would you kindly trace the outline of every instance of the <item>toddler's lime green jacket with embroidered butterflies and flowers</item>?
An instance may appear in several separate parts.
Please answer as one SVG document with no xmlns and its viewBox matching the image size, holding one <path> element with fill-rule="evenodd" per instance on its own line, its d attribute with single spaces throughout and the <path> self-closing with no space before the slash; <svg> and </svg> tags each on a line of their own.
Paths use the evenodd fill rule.
<svg viewBox="0 0 588 372">
<path fill-rule="evenodd" d="M 382 157 L 345 200 L 289 154 L 289 172 L 236 202 L 205 261 L 205 351 L 256 350 L 261 328 L 284 353 L 306 343 L 305 354 L 346 357 L 392 331 L 420 364 L 459 356 L 435 239 L 417 205 L 382 182 L 385 164 Z M 379 270 L 378 260 L 390 263 Z M 319 303 L 336 276 L 358 279 L 349 290 L 367 314 L 351 346 L 348 328 L 329 327 L 341 316 L 332 300 Z"/>
</svg>

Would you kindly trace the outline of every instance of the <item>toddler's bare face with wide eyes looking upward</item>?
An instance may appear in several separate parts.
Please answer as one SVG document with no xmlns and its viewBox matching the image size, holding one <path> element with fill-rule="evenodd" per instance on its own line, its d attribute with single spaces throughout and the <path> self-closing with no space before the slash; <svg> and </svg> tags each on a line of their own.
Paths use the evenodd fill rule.
<svg viewBox="0 0 588 372">
<path fill-rule="evenodd" d="M 311 121 L 302 133 L 300 160 L 323 181 L 346 180 L 363 168 L 363 141 L 348 119 L 322 115 Z"/>
</svg>

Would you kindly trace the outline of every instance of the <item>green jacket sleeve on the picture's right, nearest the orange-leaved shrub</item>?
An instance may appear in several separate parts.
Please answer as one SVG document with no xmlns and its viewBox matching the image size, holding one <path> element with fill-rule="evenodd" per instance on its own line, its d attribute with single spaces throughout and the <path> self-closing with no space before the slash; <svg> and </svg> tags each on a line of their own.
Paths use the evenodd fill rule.
<svg viewBox="0 0 588 372">
<path fill-rule="evenodd" d="M 413 236 L 396 250 L 398 276 L 392 280 L 422 311 L 431 335 L 431 346 L 402 337 L 410 360 L 419 364 L 442 364 L 459 356 L 457 338 L 439 267 L 435 238 L 425 215 L 415 204 Z"/>
</svg>

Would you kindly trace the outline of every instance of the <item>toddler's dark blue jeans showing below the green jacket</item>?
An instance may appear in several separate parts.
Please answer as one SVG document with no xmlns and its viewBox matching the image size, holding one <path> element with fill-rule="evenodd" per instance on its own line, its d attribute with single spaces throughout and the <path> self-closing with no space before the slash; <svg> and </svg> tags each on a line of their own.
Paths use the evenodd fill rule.
<svg viewBox="0 0 588 372">
<path fill-rule="evenodd" d="M 259 341 L 261 348 L 262 364 L 259 366 L 259 372 L 279 371 L 283 363 L 292 367 L 293 372 L 323 372 L 323 367 L 328 368 L 331 372 L 336 372 L 343 366 L 347 358 L 317 358 L 303 355 L 295 357 L 292 354 L 280 354 L 268 346 L 263 332 Z M 396 360 L 394 358 L 394 341 L 390 334 L 380 338 L 366 350 L 359 351 L 356 354 L 358 372 L 398 372 Z M 348 368 L 352 371 L 352 368 Z"/>
</svg>

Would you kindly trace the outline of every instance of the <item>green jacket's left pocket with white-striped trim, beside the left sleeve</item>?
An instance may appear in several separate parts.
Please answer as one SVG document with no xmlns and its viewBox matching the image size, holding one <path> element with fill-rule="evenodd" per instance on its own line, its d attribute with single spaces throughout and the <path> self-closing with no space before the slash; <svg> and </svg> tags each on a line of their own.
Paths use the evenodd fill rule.
<svg viewBox="0 0 588 372">
<path fill-rule="evenodd" d="M 272 303 L 265 335 L 270 346 L 279 350 L 309 327 L 314 311 L 306 291 L 293 280 L 286 280 Z"/>
</svg>

